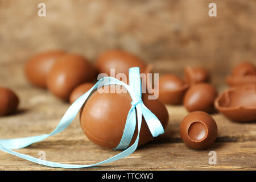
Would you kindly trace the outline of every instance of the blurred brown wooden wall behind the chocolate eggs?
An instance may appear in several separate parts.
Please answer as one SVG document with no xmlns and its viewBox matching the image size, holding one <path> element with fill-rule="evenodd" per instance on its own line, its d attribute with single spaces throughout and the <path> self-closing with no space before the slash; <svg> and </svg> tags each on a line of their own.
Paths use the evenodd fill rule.
<svg viewBox="0 0 256 182">
<path fill-rule="evenodd" d="M 46 17 L 37 14 L 40 2 Z M 217 17 L 208 16 L 210 2 L 217 4 Z M 184 65 L 203 65 L 228 75 L 239 61 L 255 62 L 255 22 L 254 0 L 0 0 L 0 74 L 18 76 L 0 84 L 24 84 L 24 62 L 55 48 L 92 61 L 106 49 L 122 48 L 154 63 L 156 72 L 182 76 Z"/>
</svg>

